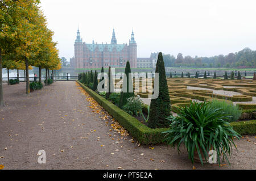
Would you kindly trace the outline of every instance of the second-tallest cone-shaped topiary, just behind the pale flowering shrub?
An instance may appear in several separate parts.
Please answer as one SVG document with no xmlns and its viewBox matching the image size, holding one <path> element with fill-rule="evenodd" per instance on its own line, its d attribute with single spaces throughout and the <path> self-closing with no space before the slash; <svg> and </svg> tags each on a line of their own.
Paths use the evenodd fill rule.
<svg viewBox="0 0 256 181">
<path fill-rule="evenodd" d="M 131 89 L 131 92 L 129 92 L 129 87 L 133 86 L 131 75 L 129 75 L 129 73 L 131 73 L 130 62 L 127 61 L 126 66 L 125 66 L 125 75 L 126 76 L 123 77 L 123 83 L 126 83 L 126 87 L 123 86 L 123 88 L 122 88 L 122 92 L 121 92 L 119 104 L 118 104 L 118 106 L 120 108 L 125 106 L 128 98 L 134 96 L 133 89 Z M 129 81 L 130 81 L 130 83 L 129 83 Z M 126 88 L 126 90 L 125 90 L 125 88 Z"/>
</svg>

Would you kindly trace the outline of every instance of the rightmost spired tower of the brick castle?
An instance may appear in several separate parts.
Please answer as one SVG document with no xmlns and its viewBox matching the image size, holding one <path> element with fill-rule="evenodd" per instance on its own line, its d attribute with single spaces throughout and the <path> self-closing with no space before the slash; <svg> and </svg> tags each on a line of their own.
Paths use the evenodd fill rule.
<svg viewBox="0 0 256 181">
<path fill-rule="evenodd" d="M 134 33 L 131 32 L 131 39 L 129 40 L 129 61 L 131 68 L 137 68 L 137 43 L 134 39 Z"/>
</svg>

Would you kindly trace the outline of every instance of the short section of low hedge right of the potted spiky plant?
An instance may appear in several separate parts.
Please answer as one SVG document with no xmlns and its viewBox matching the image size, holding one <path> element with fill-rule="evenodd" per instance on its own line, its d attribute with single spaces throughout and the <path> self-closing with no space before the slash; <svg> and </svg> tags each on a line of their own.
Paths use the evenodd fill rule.
<svg viewBox="0 0 256 181">
<path fill-rule="evenodd" d="M 230 125 L 233 127 L 234 131 L 240 134 L 256 133 L 256 120 L 232 122 Z"/>
</svg>

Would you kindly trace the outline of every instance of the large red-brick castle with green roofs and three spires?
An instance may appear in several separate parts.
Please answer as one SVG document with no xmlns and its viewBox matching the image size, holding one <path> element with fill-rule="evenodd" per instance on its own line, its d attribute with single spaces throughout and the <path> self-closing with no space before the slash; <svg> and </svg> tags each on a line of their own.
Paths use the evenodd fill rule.
<svg viewBox="0 0 256 181">
<path fill-rule="evenodd" d="M 94 68 L 125 68 L 126 62 L 130 62 L 131 68 L 137 68 L 137 43 L 134 33 L 131 33 L 129 45 L 117 44 L 113 29 L 111 43 L 88 44 L 82 42 L 79 29 L 75 40 L 75 57 L 70 59 L 71 66 L 75 69 Z"/>
</svg>

